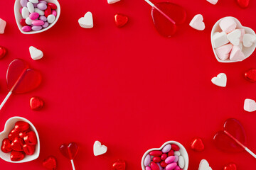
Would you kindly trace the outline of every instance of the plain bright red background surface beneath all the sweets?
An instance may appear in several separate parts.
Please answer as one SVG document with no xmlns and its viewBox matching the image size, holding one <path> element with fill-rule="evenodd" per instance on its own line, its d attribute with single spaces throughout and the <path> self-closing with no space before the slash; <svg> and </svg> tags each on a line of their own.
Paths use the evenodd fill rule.
<svg viewBox="0 0 256 170">
<path fill-rule="evenodd" d="M 0 45 L 9 54 L 0 61 L 0 98 L 8 93 L 6 69 L 17 57 L 41 71 L 43 82 L 35 91 L 13 95 L 0 112 L 0 127 L 18 115 L 36 126 L 41 140 L 38 159 L 25 164 L 0 160 L 1 169 L 44 169 L 43 159 L 54 155 L 58 169 L 71 169 L 60 152 L 63 142 L 78 142 L 77 169 L 110 169 L 116 159 L 127 170 L 141 169 L 144 152 L 168 140 L 181 142 L 188 150 L 188 169 L 198 169 L 207 159 L 213 169 L 235 162 L 238 169 L 254 169 L 255 159 L 246 152 L 220 152 L 213 135 L 227 118 L 237 118 L 247 133 L 247 147 L 256 152 L 255 113 L 243 110 L 245 98 L 256 99 L 255 87 L 243 78 L 256 67 L 256 56 L 243 62 L 217 62 L 210 45 L 210 30 L 218 19 L 234 16 L 243 26 L 256 30 L 256 3 L 247 9 L 235 0 L 220 0 L 213 6 L 204 0 L 173 1 L 186 8 L 188 18 L 173 38 L 156 32 L 151 7 L 143 0 L 61 0 L 60 19 L 53 28 L 36 35 L 23 35 L 14 19 L 14 1 L 1 1 L 0 17 L 7 22 Z M 87 11 L 95 27 L 80 28 L 78 19 Z M 129 16 L 124 28 L 114 25 L 114 14 Z M 196 14 L 205 19 L 206 30 L 188 26 Z M 28 47 L 42 50 L 42 60 L 33 61 Z M 228 76 L 226 88 L 210 82 L 220 72 Z M 29 99 L 45 101 L 41 111 L 31 111 Z M 206 149 L 193 152 L 193 137 L 202 137 Z M 107 154 L 94 157 L 92 146 L 100 140 Z"/>
</svg>

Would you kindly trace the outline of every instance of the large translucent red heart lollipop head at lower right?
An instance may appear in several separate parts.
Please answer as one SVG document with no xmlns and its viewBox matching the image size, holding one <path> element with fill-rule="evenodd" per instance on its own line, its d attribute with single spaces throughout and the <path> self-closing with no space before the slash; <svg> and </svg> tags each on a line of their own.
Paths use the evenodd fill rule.
<svg viewBox="0 0 256 170">
<path fill-rule="evenodd" d="M 224 130 L 233 135 L 238 141 L 245 145 L 246 137 L 245 130 L 243 129 L 241 123 L 233 118 L 225 121 Z M 218 149 L 225 152 L 242 152 L 244 149 L 238 145 L 231 137 L 225 134 L 224 131 L 219 131 L 213 137 L 213 142 Z"/>
</svg>

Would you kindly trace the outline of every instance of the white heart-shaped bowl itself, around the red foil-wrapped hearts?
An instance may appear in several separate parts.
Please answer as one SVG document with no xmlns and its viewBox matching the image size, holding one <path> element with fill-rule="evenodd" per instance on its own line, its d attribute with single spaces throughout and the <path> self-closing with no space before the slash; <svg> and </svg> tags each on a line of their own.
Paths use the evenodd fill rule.
<svg viewBox="0 0 256 170">
<path fill-rule="evenodd" d="M 24 159 L 22 159 L 21 161 L 13 162 L 13 161 L 11 161 L 11 158 L 10 158 L 11 153 L 4 153 L 0 149 L 0 157 L 1 157 L 1 159 L 4 159 L 4 161 L 11 162 L 11 163 L 31 162 L 34 159 L 37 159 L 39 157 L 40 141 L 39 141 L 39 135 L 38 135 L 38 132 L 37 132 L 36 128 L 33 126 L 33 124 L 30 121 L 26 120 L 26 118 L 13 117 L 13 118 L 9 118 L 9 120 L 6 121 L 6 124 L 4 126 L 4 131 L 0 132 L 0 145 L 2 144 L 2 141 L 5 138 L 8 138 L 9 132 L 11 132 L 11 130 L 14 129 L 14 125 L 17 121 L 23 121 L 23 122 L 28 123 L 30 125 L 31 130 L 33 130 L 33 132 L 36 133 L 38 143 L 36 145 L 35 153 L 32 154 L 32 155 L 26 155 L 24 157 Z"/>
</svg>

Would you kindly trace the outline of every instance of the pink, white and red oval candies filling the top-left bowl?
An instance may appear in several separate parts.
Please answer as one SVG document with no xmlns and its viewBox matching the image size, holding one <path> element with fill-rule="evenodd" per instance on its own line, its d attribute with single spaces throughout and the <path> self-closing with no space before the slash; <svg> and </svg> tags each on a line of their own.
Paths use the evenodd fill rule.
<svg viewBox="0 0 256 170">
<path fill-rule="evenodd" d="M 56 19 L 57 6 L 47 1 L 21 0 L 21 30 L 25 32 L 47 28 Z"/>
</svg>

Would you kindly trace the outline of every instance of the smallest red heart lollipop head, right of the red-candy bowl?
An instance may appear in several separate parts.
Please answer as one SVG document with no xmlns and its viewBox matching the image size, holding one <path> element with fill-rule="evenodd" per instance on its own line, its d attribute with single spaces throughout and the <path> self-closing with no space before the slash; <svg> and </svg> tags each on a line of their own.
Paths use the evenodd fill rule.
<svg viewBox="0 0 256 170">
<path fill-rule="evenodd" d="M 69 145 L 60 145 L 60 152 L 68 159 L 74 159 L 78 154 L 78 145 L 75 142 L 71 142 Z"/>
</svg>

